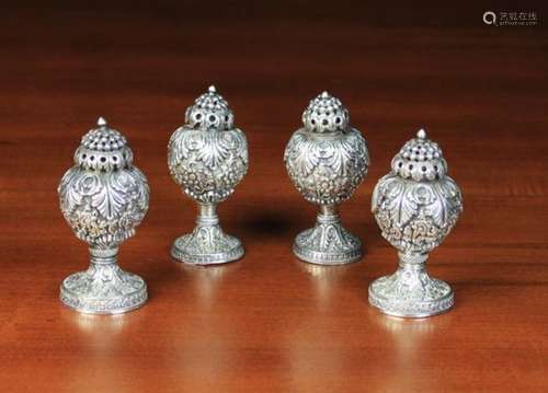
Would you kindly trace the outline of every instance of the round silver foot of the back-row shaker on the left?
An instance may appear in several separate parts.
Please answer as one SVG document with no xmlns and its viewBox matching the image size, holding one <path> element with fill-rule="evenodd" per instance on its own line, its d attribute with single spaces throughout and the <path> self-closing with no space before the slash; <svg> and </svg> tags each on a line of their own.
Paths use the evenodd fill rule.
<svg viewBox="0 0 548 393">
<path fill-rule="evenodd" d="M 191 233 L 174 241 L 171 256 L 192 265 L 218 265 L 241 258 L 243 246 L 238 239 L 228 234 L 222 234 L 222 241 L 212 243 Z"/>
</svg>

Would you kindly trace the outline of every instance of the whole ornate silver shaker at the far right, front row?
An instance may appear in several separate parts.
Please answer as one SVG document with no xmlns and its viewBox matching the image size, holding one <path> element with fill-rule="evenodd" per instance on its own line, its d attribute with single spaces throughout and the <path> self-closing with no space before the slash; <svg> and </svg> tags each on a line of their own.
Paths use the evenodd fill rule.
<svg viewBox="0 0 548 393">
<path fill-rule="evenodd" d="M 369 286 L 369 303 L 395 316 L 443 313 L 454 304 L 453 290 L 430 277 L 425 263 L 463 211 L 460 189 L 446 175 L 442 150 L 422 129 L 396 154 L 391 169 L 375 186 L 372 210 L 383 236 L 399 251 L 399 267 Z"/>
</svg>

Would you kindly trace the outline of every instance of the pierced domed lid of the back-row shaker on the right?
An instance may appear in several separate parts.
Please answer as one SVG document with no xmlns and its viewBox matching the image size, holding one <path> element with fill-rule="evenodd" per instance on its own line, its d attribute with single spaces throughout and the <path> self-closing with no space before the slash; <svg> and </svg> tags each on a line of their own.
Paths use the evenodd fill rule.
<svg viewBox="0 0 548 393">
<path fill-rule="evenodd" d="M 302 113 L 302 124 L 310 132 L 342 131 L 349 127 L 349 111 L 339 99 L 328 92 L 323 92 L 310 101 Z"/>
</svg>

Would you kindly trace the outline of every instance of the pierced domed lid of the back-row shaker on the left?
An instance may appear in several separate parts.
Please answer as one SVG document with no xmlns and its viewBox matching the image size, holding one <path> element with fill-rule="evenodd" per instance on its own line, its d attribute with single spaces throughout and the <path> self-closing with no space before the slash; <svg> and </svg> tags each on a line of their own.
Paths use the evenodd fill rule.
<svg viewBox="0 0 548 393">
<path fill-rule="evenodd" d="M 212 85 L 194 101 L 194 105 L 186 108 L 185 123 L 189 127 L 202 130 L 227 130 L 232 129 L 235 115 L 227 101 Z"/>
</svg>

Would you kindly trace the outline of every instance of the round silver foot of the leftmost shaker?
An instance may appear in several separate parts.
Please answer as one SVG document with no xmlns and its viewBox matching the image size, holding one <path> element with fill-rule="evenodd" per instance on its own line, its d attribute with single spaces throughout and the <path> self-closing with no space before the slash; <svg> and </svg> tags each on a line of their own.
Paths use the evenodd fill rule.
<svg viewBox="0 0 548 393">
<path fill-rule="evenodd" d="M 61 302 L 87 314 L 121 314 L 147 301 L 147 285 L 118 266 L 91 266 L 68 276 L 61 284 Z"/>
</svg>

